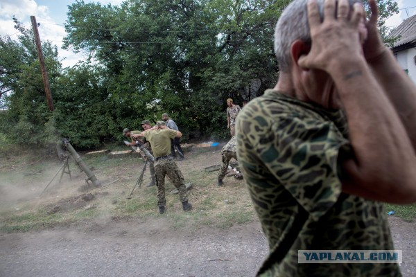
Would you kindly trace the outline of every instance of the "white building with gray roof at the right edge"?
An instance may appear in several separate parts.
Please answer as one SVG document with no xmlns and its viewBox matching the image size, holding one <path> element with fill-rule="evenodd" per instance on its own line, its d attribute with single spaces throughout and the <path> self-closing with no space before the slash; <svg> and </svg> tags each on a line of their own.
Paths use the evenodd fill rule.
<svg viewBox="0 0 416 277">
<path fill-rule="evenodd" d="M 397 62 L 416 84 L 416 15 L 403 21 L 388 38 L 397 37 L 391 48 Z"/>
</svg>

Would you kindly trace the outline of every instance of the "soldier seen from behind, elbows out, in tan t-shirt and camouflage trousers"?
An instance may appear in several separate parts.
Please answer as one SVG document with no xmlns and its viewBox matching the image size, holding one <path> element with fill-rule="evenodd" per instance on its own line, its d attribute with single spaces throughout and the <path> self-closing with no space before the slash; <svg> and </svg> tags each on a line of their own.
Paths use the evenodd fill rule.
<svg viewBox="0 0 416 277">
<path fill-rule="evenodd" d="M 192 205 L 188 202 L 187 188 L 184 184 L 184 177 L 171 156 L 171 139 L 180 138 L 182 133 L 166 127 L 164 121 L 158 121 L 155 127 L 146 129 L 141 134 L 132 134 L 132 138 L 146 138 L 152 145 L 153 155 L 155 156 L 155 172 L 157 178 L 157 206 L 159 213 L 166 211 L 165 197 L 165 176 L 173 182 L 173 186 L 179 192 L 180 202 L 184 211 L 191 211 Z"/>
</svg>

